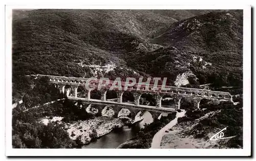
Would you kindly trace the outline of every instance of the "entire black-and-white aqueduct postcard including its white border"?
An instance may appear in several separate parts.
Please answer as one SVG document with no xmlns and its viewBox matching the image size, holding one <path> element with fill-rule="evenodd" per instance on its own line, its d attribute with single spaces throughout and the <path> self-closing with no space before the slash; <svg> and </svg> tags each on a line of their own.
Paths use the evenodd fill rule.
<svg viewBox="0 0 256 161">
<path fill-rule="evenodd" d="M 250 7 L 10 11 L 11 150 L 250 149 Z"/>
</svg>

